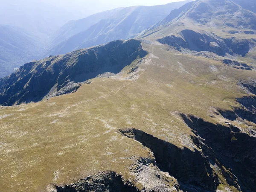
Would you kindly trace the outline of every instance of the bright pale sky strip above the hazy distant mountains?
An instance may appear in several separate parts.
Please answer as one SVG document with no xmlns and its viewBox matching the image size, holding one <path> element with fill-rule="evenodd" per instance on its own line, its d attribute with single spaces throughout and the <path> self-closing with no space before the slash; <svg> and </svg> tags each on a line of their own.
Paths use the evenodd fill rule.
<svg viewBox="0 0 256 192">
<path fill-rule="evenodd" d="M 13 9 L 20 9 L 23 6 L 23 10 L 26 7 L 33 7 L 35 5 L 52 6 L 61 8 L 65 11 L 72 13 L 73 19 L 79 19 L 87 17 L 97 12 L 103 12 L 118 7 L 129 6 L 154 6 L 164 5 L 167 3 L 183 1 L 183 0 L 0 0 L 0 11 L 6 12 L 8 9 L 12 9 L 12 5 L 16 5 Z M 36 6 L 35 11 L 38 10 Z M 1 9 L 2 8 L 2 9 Z M 28 9 L 29 10 L 29 9 Z M 58 11 L 56 10 L 56 13 Z M 14 10 L 15 13 L 15 10 Z M 6 13 L 5 13 L 6 14 Z M 12 16 L 12 12 L 10 12 Z M 9 15 L 6 15 L 9 16 Z M 71 15 L 70 15 L 71 16 Z"/>
</svg>

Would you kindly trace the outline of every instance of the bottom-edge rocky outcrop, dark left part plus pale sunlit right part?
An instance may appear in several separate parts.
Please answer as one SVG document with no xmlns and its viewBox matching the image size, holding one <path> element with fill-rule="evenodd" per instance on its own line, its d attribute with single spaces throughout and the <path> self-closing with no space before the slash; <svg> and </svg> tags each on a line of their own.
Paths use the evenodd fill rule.
<svg viewBox="0 0 256 192">
<path fill-rule="evenodd" d="M 99 172 L 68 185 L 51 184 L 47 192 L 178 192 L 177 180 L 161 172 L 154 158 L 140 158 L 130 167 L 134 180 L 113 171 Z M 140 189 L 138 187 L 140 186 Z"/>
</svg>

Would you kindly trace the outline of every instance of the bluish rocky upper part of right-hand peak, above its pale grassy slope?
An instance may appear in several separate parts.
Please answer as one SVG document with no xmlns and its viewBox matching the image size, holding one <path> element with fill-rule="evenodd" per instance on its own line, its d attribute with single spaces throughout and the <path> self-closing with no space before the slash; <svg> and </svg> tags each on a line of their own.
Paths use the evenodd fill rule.
<svg viewBox="0 0 256 192">
<path fill-rule="evenodd" d="M 192 19 L 193 24 L 212 28 L 235 28 L 256 30 L 256 16 L 247 9 L 242 9 L 231 0 L 197 0 L 175 9 L 164 20 L 152 28 Z"/>
</svg>

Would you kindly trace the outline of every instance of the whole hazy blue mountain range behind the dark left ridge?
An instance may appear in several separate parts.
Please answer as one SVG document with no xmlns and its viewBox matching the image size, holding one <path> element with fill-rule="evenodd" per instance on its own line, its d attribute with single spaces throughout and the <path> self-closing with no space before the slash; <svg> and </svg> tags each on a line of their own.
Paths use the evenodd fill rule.
<svg viewBox="0 0 256 192">
<path fill-rule="evenodd" d="M 20 67 L 20 65 L 33 59 L 65 54 L 79 48 L 91 47 L 118 39 L 129 39 L 162 20 L 171 10 L 179 8 L 186 2 L 188 1 L 169 3 L 163 6 L 118 8 L 91 15 L 84 19 L 72 20 L 63 26 L 61 26 L 62 23 L 68 17 L 72 18 L 72 15 L 64 10 L 58 11 L 55 7 L 44 5 L 44 3 L 38 4 L 38 2 L 32 2 L 32 5 L 29 6 L 22 3 L 20 5 L 20 2 L 6 2 L 6 6 L 2 6 L 3 10 L 0 14 L 12 15 L 12 17 L 7 20 L 0 20 L 0 23 L 11 29 L 15 28 L 16 31 L 20 30 L 21 34 L 29 33 L 30 39 L 26 40 L 26 43 L 22 46 L 17 46 L 17 48 L 6 48 L 4 45 L 3 47 L 0 45 L 5 55 L 2 56 L 3 61 L 0 61 L 2 71 L 0 77 L 11 74 L 15 67 Z M 38 9 L 32 9 L 34 4 Z M 14 12 L 15 6 L 20 6 L 19 12 Z M 7 10 L 13 13 L 7 14 Z M 43 17 L 40 16 L 41 13 L 45 13 Z M 55 19 L 51 20 L 48 17 L 54 17 Z M 1 18 L 4 18 L 4 16 Z M 29 22 L 26 18 L 33 19 Z M 14 26 L 10 26 L 11 24 Z M 5 35 L 0 37 L 7 44 L 12 44 Z M 16 38 L 16 35 L 14 32 L 10 32 L 9 37 Z M 23 39 L 26 38 L 20 38 L 20 41 L 23 41 Z M 36 45 L 36 49 L 34 49 L 34 45 Z M 14 54 L 16 49 L 23 50 L 20 52 L 22 59 L 20 59 L 20 55 L 17 55 L 17 52 Z"/>
</svg>

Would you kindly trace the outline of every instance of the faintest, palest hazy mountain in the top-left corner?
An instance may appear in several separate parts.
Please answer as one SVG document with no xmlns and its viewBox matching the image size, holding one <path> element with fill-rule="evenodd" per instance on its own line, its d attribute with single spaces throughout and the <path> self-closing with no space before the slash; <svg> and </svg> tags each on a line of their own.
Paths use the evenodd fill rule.
<svg viewBox="0 0 256 192">
<path fill-rule="evenodd" d="M 23 28 L 41 38 L 73 18 L 67 10 L 41 0 L 6 0 L 0 4 L 0 24 Z"/>
</svg>

